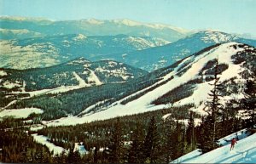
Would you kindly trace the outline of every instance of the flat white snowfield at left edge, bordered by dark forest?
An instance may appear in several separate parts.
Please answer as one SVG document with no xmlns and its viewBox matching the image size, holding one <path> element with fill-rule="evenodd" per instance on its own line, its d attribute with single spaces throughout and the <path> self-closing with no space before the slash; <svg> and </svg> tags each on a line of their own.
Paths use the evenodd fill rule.
<svg viewBox="0 0 256 164">
<path fill-rule="evenodd" d="M 0 112 L 0 118 L 4 116 L 14 116 L 15 118 L 26 118 L 32 113 L 43 113 L 44 111 L 38 108 L 23 108 L 13 110 L 3 110 Z"/>
</svg>

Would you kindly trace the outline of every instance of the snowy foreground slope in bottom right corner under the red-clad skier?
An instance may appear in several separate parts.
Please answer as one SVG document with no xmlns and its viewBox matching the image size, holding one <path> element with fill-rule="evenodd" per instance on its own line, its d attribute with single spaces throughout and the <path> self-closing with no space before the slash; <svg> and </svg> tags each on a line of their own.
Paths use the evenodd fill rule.
<svg viewBox="0 0 256 164">
<path fill-rule="evenodd" d="M 172 163 L 255 163 L 256 162 L 256 133 L 248 136 L 246 129 L 232 133 L 219 144 L 224 146 L 201 155 L 199 149 L 177 158 Z M 230 151 L 230 139 L 238 137 L 235 149 Z"/>
</svg>

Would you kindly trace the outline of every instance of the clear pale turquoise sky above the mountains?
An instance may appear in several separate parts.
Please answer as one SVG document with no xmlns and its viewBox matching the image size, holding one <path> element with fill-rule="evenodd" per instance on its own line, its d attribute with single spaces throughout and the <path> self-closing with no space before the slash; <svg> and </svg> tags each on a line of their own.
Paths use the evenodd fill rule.
<svg viewBox="0 0 256 164">
<path fill-rule="evenodd" d="M 0 0 L 0 15 L 130 19 L 256 36 L 256 0 Z"/>
</svg>

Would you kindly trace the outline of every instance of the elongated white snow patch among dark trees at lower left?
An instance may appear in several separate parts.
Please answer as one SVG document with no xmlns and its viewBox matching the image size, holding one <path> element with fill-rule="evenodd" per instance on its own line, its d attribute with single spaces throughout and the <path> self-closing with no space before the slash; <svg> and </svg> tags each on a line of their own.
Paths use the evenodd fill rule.
<svg viewBox="0 0 256 164">
<path fill-rule="evenodd" d="M 53 151 L 54 155 L 60 155 L 64 148 L 60 146 L 56 146 L 55 144 L 52 144 L 48 141 L 48 138 L 44 135 L 38 135 L 38 133 L 32 134 L 32 137 L 35 139 L 36 142 L 39 144 L 43 144 L 49 148 L 49 151 Z"/>
</svg>

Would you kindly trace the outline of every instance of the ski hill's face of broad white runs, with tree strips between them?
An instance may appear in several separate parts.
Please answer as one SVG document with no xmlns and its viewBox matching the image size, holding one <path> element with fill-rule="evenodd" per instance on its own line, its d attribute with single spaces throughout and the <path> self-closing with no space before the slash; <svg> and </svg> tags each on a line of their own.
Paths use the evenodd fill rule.
<svg viewBox="0 0 256 164">
<path fill-rule="evenodd" d="M 218 59 L 219 67 L 222 70 L 219 76 L 220 82 L 225 86 L 222 102 L 234 97 L 242 98 L 243 95 L 239 91 L 245 82 L 244 74 L 255 68 L 256 49 L 238 42 L 228 42 L 183 59 L 175 67 L 167 68 L 164 71 L 166 72 L 165 76 L 161 76 L 159 82 L 119 99 L 111 105 L 102 107 L 102 111 L 79 117 L 61 118 L 55 122 L 49 122 L 48 126 L 74 125 L 189 104 L 193 104 L 189 110 L 205 115 L 206 112 L 203 109 L 207 101 L 207 94 L 212 89 L 212 85 L 210 85 L 212 83 L 212 63 L 216 59 Z M 236 90 L 236 92 L 230 93 L 230 90 Z M 184 92 L 189 95 L 177 95 L 177 93 Z M 170 99 L 166 101 L 165 98 L 168 97 Z M 177 99 L 172 99 L 172 97 L 177 97 Z M 124 101 L 126 102 L 124 103 Z"/>
</svg>

